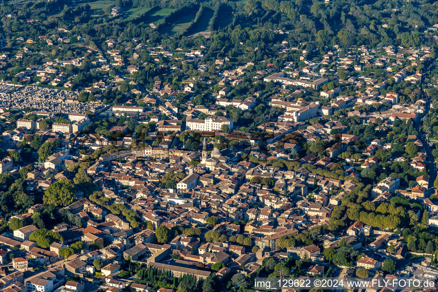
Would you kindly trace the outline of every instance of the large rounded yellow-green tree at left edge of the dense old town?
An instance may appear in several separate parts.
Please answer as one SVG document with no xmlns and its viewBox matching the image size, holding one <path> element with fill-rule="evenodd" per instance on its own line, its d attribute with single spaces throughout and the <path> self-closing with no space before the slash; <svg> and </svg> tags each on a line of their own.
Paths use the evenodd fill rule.
<svg viewBox="0 0 438 292">
<path fill-rule="evenodd" d="M 47 188 L 42 201 L 44 204 L 65 207 L 73 203 L 74 193 L 74 184 L 68 179 L 60 179 Z"/>
</svg>

